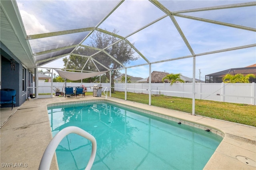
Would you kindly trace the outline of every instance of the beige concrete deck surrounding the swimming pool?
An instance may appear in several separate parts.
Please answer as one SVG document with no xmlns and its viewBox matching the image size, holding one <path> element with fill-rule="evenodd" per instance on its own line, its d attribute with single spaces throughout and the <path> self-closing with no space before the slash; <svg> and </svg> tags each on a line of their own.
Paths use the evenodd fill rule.
<svg viewBox="0 0 256 170">
<path fill-rule="evenodd" d="M 21 166 L 19 169 L 38 169 L 44 150 L 52 139 L 46 105 L 61 102 L 81 102 L 83 100 L 105 100 L 105 98 L 103 96 L 101 98 L 79 96 L 77 98 L 31 99 L 24 102 L 20 107 L 15 107 L 13 111 L 10 107 L 1 108 L 1 170 L 16 169 L 17 166 Z M 204 167 L 205 170 L 256 169 L 255 127 L 116 98 L 108 98 L 107 100 L 153 111 L 223 133 L 224 139 Z M 9 167 L 7 167 L 8 165 Z M 52 159 L 50 169 L 58 169 L 55 156 Z"/>
</svg>

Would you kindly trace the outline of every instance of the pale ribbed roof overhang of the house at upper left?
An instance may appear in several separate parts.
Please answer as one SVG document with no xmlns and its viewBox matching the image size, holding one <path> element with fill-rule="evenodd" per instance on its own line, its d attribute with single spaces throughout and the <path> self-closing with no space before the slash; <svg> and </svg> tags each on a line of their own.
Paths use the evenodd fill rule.
<svg viewBox="0 0 256 170">
<path fill-rule="evenodd" d="M 16 1 L 1 0 L 1 42 L 15 55 L 22 64 L 34 72 L 36 64 L 32 50 L 26 40 Z"/>
</svg>

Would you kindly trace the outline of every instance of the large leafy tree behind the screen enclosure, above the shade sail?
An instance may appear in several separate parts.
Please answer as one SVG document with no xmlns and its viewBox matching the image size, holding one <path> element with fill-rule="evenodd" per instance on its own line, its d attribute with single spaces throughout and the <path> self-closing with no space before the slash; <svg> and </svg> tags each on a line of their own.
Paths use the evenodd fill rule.
<svg viewBox="0 0 256 170">
<path fill-rule="evenodd" d="M 112 33 L 117 34 L 118 31 L 114 29 Z M 122 66 L 114 59 L 125 65 L 130 63 L 130 61 L 137 60 L 138 56 L 134 56 L 135 51 L 132 49 L 132 47 L 126 41 L 120 41 L 118 37 L 114 37 L 110 34 L 100 31 L 94 31 L 90 38 L 91 40 L 88 43 L 88 46 L 98 49 L 104 49 L 107 54 L 104 52 L 100 52 L 96 55 L 91 56 L 92 54 L 97 52 L 97 50 L 90 47 L 80 47 L 74 51 L 74 53 L 78 54 L 79 56 L 71 55 L 69 60 L 68 58 L 63 59 L 65 68 L 87 71 L 105 71 L 108 70 L 107 68 L 109 68 L 110 70 L 112 70 L 111 87 L 114 87 L 114 77 L 117 77 L 120 74 L 120 72 L 116 69 L 122 68 Z M 81 57 L 81 55 L 84 57 Z M 114 59 L 112 59 L 108 55 L 111 55 L 112 57 L 114 57 Z M 95 61 L 99 61 L 101 64 L 92 61 L 92 59 L 87 56 L 91 56 Z M 106 72 L 107 78 L 110 77 L 110 70 Z M 111 89 L 111 92 L 114 93 L 114 88 Z"/>
</svg>

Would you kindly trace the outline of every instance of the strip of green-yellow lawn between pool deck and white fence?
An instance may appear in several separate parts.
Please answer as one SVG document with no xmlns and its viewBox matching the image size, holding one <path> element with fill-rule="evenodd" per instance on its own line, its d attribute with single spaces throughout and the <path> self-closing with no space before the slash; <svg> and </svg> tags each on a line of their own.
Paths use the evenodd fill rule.
<svg viewBox="0 0 256 170">
<path fill-rule="evenodd" d="M 92 95 L 92 92 L 88 92 L 86 95 Z M 112 93 L 112 97 L 124 99 L 124 92 Z M 136 94 L 128 92 L 127 100 L 148 104 L 148 94 Z M 151 105 L 192 114 L 192 99 L 190 98 L 152 95 Z M 256 106 L 254 105 L 214 102 L 210 100 L 196 100 L 195 113 L 196 115 L 256 127 Z"/>
</svg>

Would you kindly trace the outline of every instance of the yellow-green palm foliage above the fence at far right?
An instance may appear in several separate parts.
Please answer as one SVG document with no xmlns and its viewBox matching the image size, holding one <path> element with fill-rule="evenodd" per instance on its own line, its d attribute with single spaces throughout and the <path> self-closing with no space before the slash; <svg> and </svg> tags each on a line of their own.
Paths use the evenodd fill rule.
<svg viewBox="0 0 256 170">
<path fill-rule="evenodd" d="M 243 74 L 235 74 L 235 75 L 226 74 L 222 78 L 222 82 L 224 82 L 224 83 L 250 83 L 250 81 L 249 81 L 250 78 L 255 78 L 255 75 L 247 74 L 246 76 L 244 76 Z"/>
</svg>

